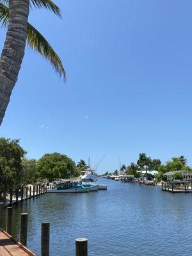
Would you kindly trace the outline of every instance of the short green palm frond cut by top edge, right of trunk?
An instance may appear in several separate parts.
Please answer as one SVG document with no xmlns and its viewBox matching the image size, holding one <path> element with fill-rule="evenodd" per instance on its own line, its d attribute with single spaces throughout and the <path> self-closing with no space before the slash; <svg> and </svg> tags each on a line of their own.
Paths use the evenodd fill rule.
<svg viewBox="0 0 192 256">
<path fill-rule="evenodd" d="M 7 0 L 3 0 L 3 1 L 7 1 Z M 33 4 L 33 6 L 35 6 L 35 8 L 43 7 L 45 9 L 51 10 L 52 12 L 54 12 L 54 14 L 61 17 L 60 8 L 51 0 L 31 0 L 31 3 Z"/>
</svg>

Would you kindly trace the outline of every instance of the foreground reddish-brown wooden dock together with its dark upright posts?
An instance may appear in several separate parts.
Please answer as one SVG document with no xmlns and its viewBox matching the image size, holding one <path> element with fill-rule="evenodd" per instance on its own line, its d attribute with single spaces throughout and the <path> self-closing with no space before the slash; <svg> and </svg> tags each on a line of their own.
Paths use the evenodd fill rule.
<svg viewBox="0 0 192 256">
<path fill-rule="evenodd" d="M 0 203 L 0 256 L 36 256 L 27 246 L 28 213 L 20 214 L 20 240 L 12 237 L 13 207 L 6 208 L 6 232 L 3 230 L 4 204 Z M 41 256 L 49 256 L 50 223 L 42 223 Z M 76 256 L 88 256 L 88 241 L 86 238 L 76 239 Z"/>
</svg>

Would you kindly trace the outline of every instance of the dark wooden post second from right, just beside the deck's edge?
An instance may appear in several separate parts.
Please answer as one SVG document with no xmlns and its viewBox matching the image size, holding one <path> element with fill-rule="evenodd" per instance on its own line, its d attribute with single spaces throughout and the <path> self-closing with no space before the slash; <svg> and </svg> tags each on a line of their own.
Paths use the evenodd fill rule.
<svg viewBox="0 0 192 256">
<path fill-rule="evenodd" d="M 50 223 L 42 223 L 42 254 L 49 256 Z"/>
</svg>

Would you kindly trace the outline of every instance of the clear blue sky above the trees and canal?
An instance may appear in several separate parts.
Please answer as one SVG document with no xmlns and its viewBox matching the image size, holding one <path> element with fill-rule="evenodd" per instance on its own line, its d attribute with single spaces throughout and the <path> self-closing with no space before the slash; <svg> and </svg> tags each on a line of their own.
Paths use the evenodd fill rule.
<svg viewBox="0 0 192 256">
<path fill-rule="evenodd" d="M 0 127 L 28 157 L 61 152 L 114 170 L 140 152 L 192 165 L 192 2 L 57 0 L 63 19 L 31 10 L 67 71 L 26 49 Z M 3 47 L 4 31 L 0 31 Z"/>
</svg>

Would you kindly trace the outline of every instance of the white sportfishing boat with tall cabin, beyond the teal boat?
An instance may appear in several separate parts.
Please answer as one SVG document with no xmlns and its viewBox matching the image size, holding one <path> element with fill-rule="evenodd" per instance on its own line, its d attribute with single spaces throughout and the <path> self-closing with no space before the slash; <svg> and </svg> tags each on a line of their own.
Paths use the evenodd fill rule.
<svg viewBox="0 0 192 256">
<path fill-rule="evenodd" d="M 90 184 L 98 186 L 98 190 L 106 190 L 108 189 L 108 185 L 97 184 L 97 177 L 95 175 L 95 170 L 91 168 L 87 168 L 86 170 L 81 172 L 80 181 L 82 185 Z"/>
</svg>

